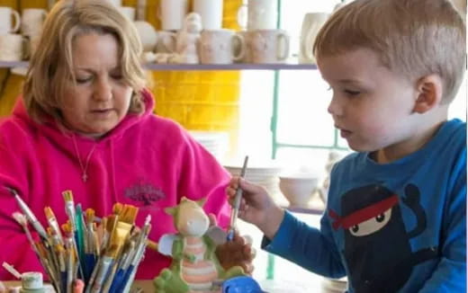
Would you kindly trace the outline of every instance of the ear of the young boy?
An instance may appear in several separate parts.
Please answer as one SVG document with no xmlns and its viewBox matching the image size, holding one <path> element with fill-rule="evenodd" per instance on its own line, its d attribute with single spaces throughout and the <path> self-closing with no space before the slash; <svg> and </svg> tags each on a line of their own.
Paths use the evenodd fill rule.
<svg viewBox="0 0 468 293">
<path fill-rule="evenodd" d="M 426 75 L 419 79 L 417 84 L 418 97 L 413 111 L 423 114 L 442 100 L 442 78 L 439 75 Z"/>
</svg>

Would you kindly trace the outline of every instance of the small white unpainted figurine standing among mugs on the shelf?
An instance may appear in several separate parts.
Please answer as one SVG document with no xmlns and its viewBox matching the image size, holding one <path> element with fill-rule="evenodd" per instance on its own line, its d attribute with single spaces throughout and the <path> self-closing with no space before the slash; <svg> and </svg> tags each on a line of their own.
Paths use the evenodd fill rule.
<svg viewBox="0 0 468 293">
<path fill-rule="evenodd" d="M 181 63 L 198 64 L 198 47 L 200 32 L 202 31 L 202 17 L 198 13 L 188 13 L 184 20 L 184 27 L 177 34 L 175 52 Z"/>
</svg>

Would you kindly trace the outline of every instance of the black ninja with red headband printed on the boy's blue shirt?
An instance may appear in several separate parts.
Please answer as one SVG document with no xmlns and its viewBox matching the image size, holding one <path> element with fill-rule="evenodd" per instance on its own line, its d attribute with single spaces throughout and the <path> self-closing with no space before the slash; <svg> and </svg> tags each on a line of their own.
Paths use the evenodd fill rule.
<svg viewBox="0 0 468 293">
<path fill-rule="evenodd" d="M 341 197 L 341 216 L 329 210 L 333 228 L 344 229 L 349 279 L 358 293 L 396 292 L 410 278 L 413 266 L 437 256 L 434 247 L 411 252 L 410 238 L 420 235 L 427 222 L 418 187 L 407 185 L 405 195 L 399 199 L 383 185 L 371 184 Z M 417 219 L 410 232 L 403 223 L 399 200 Z"/>
</svg>

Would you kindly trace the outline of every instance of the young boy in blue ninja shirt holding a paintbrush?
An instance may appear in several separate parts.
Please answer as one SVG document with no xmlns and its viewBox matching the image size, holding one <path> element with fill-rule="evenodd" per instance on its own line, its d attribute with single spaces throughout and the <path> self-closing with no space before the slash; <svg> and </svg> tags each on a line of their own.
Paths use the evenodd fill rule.
<svg viewBox="0 0 468 293">
<path fill-rule="evenodd" d="M 448 0 L 356 0 L 321 29 L 314 54 L 329 113 L 356 153 L 331 172 L 320 230 L 238 177 L 239 217 L 262 247 L 349 292 L 466 291 L 466 124 L 447 121 L 465 67 Z"/>
</svg>

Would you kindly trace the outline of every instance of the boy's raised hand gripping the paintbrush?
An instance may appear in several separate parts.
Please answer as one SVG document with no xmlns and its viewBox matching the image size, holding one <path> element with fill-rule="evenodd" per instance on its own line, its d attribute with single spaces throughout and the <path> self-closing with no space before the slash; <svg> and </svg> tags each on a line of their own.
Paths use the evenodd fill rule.
<svg viewBox="0 0 468 293">
<path fill-rule="evenodd" d="M 272 239 L 283 221 L 284 210 L 275 204 L 265 188 L 238 176 L 231 178 L 226 190 L 231 205 L 234 204 L 238 187 L 242 190 L 238 217 L 258 226 L 267 238 Z"/>
</svg>

